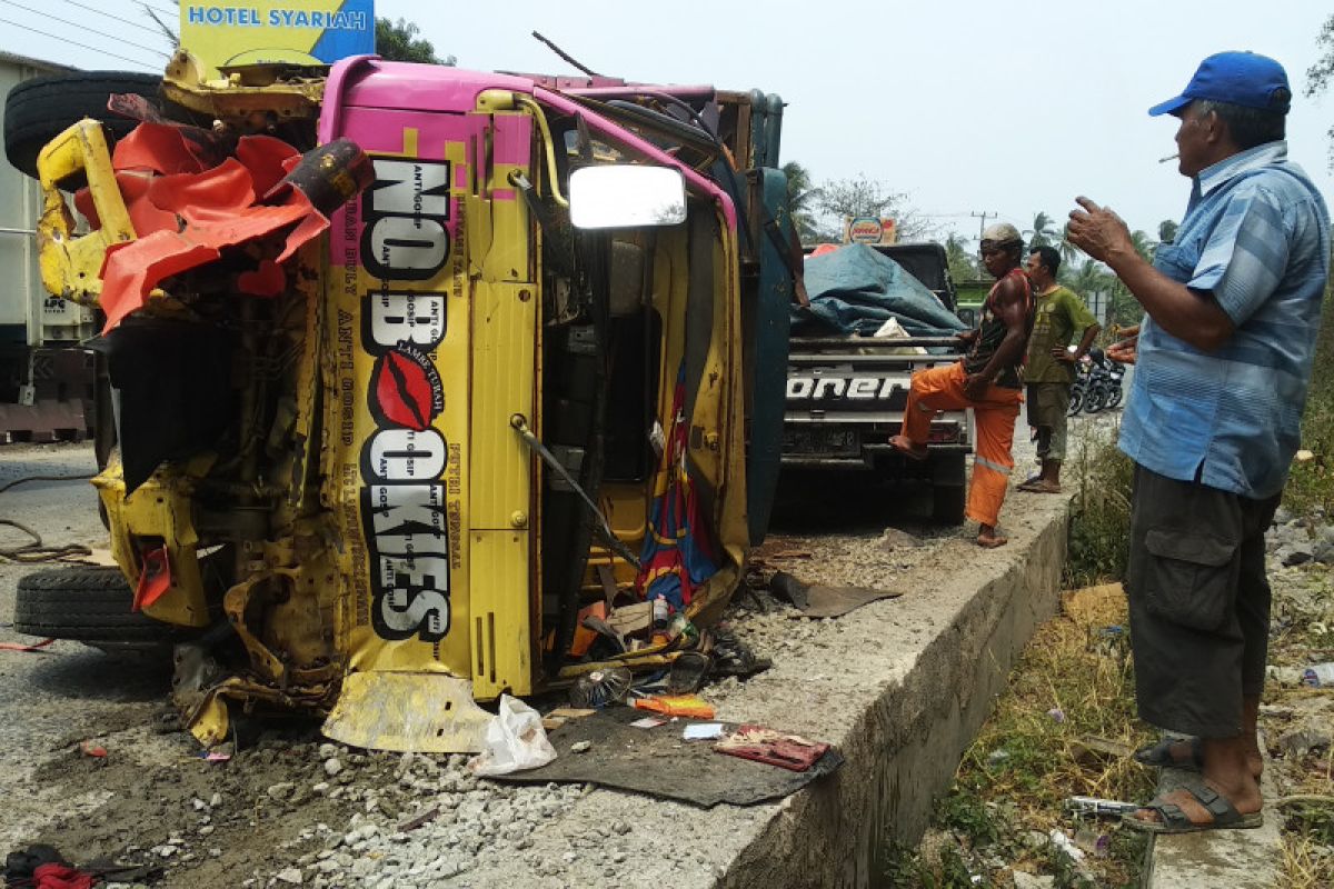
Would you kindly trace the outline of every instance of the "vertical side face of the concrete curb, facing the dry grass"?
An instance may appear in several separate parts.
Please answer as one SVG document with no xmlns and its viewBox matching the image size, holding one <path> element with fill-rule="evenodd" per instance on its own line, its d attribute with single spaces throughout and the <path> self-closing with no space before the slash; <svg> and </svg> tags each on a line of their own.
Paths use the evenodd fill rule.
<svg viewBox="0 0 1334 889">
<path fill-rule="evenodd" d="M 1021 497 L 1011 494 L 1011 504 Z M 1007 512 L 1017 508 L 1011 504 Z M 903 648 L 895 650 L 890 676 L 878 677 L 867 694 L 843 701 L 859 710 L 838 738 L 843 768 L 778 806 L 716 885 L 884 882 L 891 841 L 920 840 L 932 800 L 948 788 L 1019 652 L 1057 613 L 1067 505 L 1065 497 L 1038 498 L 1023 526 L 1010 529 L 1009 546 L 979 550 L 976 562 L 960 565 L 946 589 L 914 590 L 892 602 L 906 613 L 884 610 L 891 616 L 884 644 Z M 903 628 L 915 632 L 904 638 L 896 632 Z M 848 669 L 867 661 L 874 665 L 876 658 L 846 653 Z"/>
</svg>

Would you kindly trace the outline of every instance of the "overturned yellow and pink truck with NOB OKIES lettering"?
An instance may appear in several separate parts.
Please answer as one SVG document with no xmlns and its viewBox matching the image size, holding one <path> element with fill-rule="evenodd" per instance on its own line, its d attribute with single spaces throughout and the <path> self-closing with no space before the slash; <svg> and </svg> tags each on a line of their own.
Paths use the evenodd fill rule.
<svg viewBox="0 0 1334 889">
<path fill-rule="evenodd" d="M 468 750 L 476 701 L 668 665 L 692 636 L 650 600 L 715 621 L 778 476 L 782 103 L 374 57 L 197 71 L 179 52 L 109 111 L 80 75 L 87 119 L 7 141 L 41 180 L 48 289 L 105 324 L 119 566 L 29 576 L 16 628 L 173 645 L 204 744 L 283 709 Z"/>
</svg>

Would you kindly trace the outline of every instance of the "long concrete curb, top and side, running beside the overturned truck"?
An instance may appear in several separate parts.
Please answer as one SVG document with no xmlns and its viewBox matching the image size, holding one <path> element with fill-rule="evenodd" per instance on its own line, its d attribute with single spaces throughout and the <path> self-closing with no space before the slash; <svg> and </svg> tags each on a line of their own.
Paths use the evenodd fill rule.
<svg viewBox="0 0 1334 889">
<path fill-rule="evenodd" d="M 1067 512 L 1066 496 L 1011 490 L 1002 514 L 1010 545 L 982 550 L 960 529 L 918 566 L 883 580 L 902 597 L 806 624 L 800 657 L 780 646 L 772 668 L 719 705 L 724 721 L 836 744 L 846 761 L 835 774 L 776 804 L 711 809 L 594 789 L 543 822 L 523 858 L 484 864 L 460 882 L 883 885 L 891 842 L 920 840 L 934 797 L 950 785 L 1019 652 L 1057 612 Z M 632 830 L 599 838 L 619 822 Z M 600 852 L 608 844 L 624 858 L 614 866 Z M 526 864 L 532 872 L 516 880 Z"/>
</svg>

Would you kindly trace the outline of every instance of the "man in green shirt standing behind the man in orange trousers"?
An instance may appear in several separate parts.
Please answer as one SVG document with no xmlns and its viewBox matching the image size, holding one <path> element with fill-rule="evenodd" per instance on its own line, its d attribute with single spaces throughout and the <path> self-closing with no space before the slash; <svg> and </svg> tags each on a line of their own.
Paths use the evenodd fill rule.
<svg viewBox="0 0 1334 889">
<path fill-rule="evenodd" d="M 1098 319 L 1073 291 L 1057 284 L 1061 253 L 1051 247 L 1035 247 L 1029 253 L 1025 273 L 1033 283 L 1034 319 L 1029 337 L 1029 360 L 1023 379 L 1029 387 L 1029 425 L 1038 431 L 1038 458 L 1042 472 L 1019 485 L 1019 490 L 1061 493 L 1061 462 L 1066 458 L 1066 409 L 1070 384 L 1079 361 L 1098 336 Z M 1079 345 L 1070 341 L 1082 333 Z"/>
</svg>

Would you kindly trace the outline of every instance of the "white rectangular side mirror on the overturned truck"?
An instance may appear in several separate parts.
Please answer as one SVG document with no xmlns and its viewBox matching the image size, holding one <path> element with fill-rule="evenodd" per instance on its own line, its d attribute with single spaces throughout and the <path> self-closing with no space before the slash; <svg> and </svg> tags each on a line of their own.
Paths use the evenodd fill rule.
<svg viewBox="0 0 1334 889">
<path fill-rule="evenodd" d="M 575 228 L 636 228 L 686 221 L 686 183 L 670 167 L 583 167 L 570 175 Z"/>
</svg>

